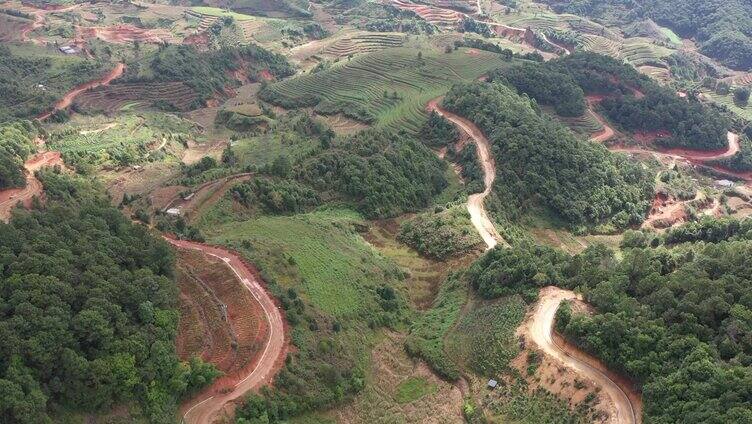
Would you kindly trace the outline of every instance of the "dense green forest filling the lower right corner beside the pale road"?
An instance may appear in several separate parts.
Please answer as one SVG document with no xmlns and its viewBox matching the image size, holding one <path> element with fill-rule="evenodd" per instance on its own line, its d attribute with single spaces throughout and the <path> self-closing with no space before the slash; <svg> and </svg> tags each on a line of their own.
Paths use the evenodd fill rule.
<svg viewBox="0 0 752 424">
<path fill-rule="evenodd" d="M 751 253 L 748 239 L 630 248 L 621 259 L 601 245 L 573 257 L 521 246 L 492 250 L 467 274 L 487 298 L 534 296 L 547 285 L 582 290 L 598 312 L 562 306 L 557 328 L 642 388 L 646 422 L 746 423 Z"/>
</svg>

